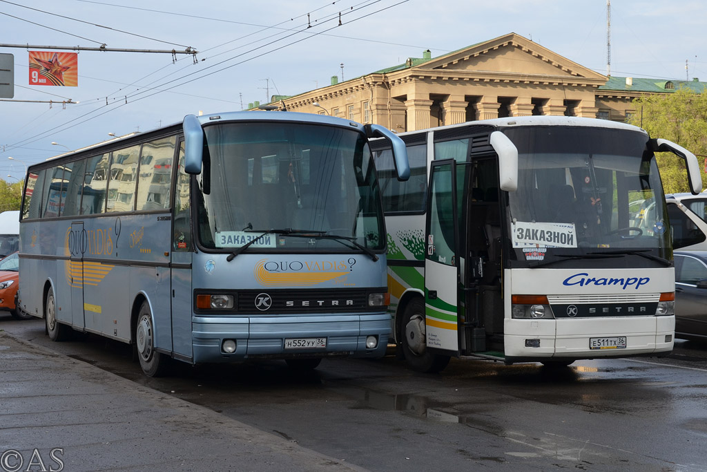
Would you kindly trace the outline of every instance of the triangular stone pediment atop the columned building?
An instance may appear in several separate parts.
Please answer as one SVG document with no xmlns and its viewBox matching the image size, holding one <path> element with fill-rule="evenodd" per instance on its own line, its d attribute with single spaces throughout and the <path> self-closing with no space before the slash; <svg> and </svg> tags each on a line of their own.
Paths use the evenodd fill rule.
<svg viewBox="0 0 707 472">
<path fill-rule="evenodd" d="M 511 74 L 607 81 L 607 77 L 572 62 L 515 33 L 450 52 L 409 70 L 454 71 L 460 74 Z"/>
</svg>

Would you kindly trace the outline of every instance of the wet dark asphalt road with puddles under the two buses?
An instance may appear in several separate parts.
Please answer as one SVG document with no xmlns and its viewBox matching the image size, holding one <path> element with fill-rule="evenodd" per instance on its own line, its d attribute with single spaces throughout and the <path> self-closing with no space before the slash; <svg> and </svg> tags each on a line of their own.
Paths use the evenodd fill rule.
<svg viewBox="0 0 707 472">
<path fill-rule="evenodd" d="M 371 471 L 707 471 L 707 346 L 569 369 L 453 359 L 442 374 L 394 356 L 190 367 L 146 378 L 127 345 L 52 343 L 43 321 L 0 329 Z"/>
</svg>

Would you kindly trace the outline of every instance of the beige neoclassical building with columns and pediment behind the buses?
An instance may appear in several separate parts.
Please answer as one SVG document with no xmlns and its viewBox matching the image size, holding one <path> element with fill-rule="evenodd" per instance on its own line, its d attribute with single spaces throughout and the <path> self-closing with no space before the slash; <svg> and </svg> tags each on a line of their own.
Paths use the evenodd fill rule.
<svg viewBox="0 0 707 472">
<path fill-rule="evenodd" d="M 515 33 L 339 82 L 296 96 L 273 96 L 270 105 L 328 113 L 395 132 L 469 120 L 527 115 L 571 115 L 624 121 L 633 100 L 671 93 L 694 81 L 609 77 L 572 62 Z M 251 107 L 253 108 L 253 107 Z M 257 108 L 257 104 L 255 105 Z"/>
</svg>

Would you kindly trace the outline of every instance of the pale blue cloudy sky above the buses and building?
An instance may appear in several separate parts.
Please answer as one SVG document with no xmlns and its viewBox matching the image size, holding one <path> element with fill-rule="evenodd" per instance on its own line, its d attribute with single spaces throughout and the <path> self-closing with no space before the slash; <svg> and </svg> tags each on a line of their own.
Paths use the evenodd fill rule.
<svg viewBox="0 0 707 472">
<path fill-rule="evenodd" d="M 612 76 L 707 81 L 707 2 L 613 0 L 610 12 Z M 13 98 L 0 98 L 0 178 L 109 133 L 242 110 L 508 33 L 607 74 L 607 0 L 0 0 L 0 54 L 15 69 Z M 103 44 L 191 47 L 197 63 L 83 50 L 77 86 L 30 85 L 28 50 Z"/>
</svg>

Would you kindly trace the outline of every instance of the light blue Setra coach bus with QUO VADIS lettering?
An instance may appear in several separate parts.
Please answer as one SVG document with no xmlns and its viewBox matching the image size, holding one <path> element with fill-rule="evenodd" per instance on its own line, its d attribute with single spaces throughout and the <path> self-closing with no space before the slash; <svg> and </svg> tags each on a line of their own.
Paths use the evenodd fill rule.
<svg viewBox="0 0 707 472">
<path fill-rule="evenodd" d="M 132 343 L 189 363 L 380 357 L 386 238 L 378 125 L 289 112 L 187 115 L 28 170 L 20 304 L 52 340 Z"/>
</svg>

